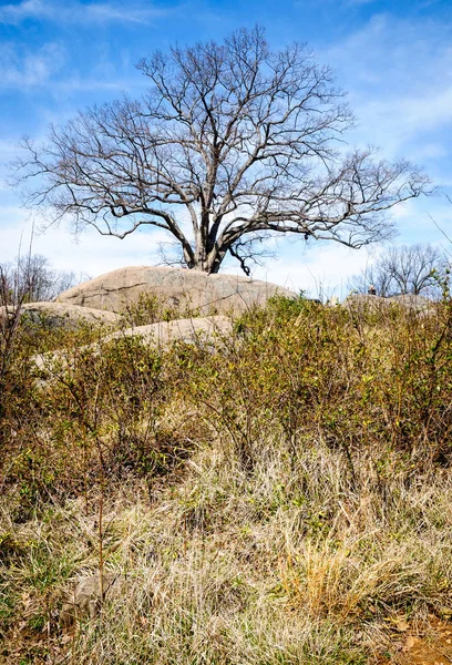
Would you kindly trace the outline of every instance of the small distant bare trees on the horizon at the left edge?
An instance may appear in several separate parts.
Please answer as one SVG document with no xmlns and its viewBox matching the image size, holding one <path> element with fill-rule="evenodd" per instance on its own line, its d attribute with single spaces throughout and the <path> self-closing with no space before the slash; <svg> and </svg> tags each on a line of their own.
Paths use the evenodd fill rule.
<svg viewBox="0 0 452 665">
<path fill-rule="evenodd" d="M 76 282 L 74 273 L 51 268 L 41 254 L 18 256 L 13 263 L 0 264 L 1 304 L 52 300 Z"/>
</svg>

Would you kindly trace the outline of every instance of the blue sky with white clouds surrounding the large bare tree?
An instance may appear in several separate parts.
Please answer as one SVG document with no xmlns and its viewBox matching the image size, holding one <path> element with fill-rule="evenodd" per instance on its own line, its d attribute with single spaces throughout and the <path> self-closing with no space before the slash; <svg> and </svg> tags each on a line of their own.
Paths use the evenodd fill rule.
<svg viewBox="0 0 452 665">
<path fill-rule="evenodd" d="M 335 69 L 359 122 L 348 136 L 351 144 L 407 157 L 452 194 L 451 0 L 0 2 L 0 263 L 11 260 L 21 244 L 22 250 L 28 247 L 33 222 L 19 193 L 3 183 L 23 135 L 39 140 L 49 123 L 78 109 L 123 92 L 140 95 L 146 81 L 134 64 L 154 49 L 220 41 L 256 22 L 266 27 L 273 47 L 307 42 L 319 62 Z M 394 211 L 396 242 L 441 243 L 429 215 L 452 233 L 452 205 L 439 194 Z M 136 233 L 119 241 L 93 232 L 75 243 L 62 225 L 37 236 L 33 250 L 58 268 L 94 276 L 156 263 L 153 238 Z M 322 285 L 343 295 L 347 277 L 374 256 L 335 244 L 307 248 L 282 241 L 278 258 L 268 259 L 255 277 L 311 293 Z"/>
</svg>

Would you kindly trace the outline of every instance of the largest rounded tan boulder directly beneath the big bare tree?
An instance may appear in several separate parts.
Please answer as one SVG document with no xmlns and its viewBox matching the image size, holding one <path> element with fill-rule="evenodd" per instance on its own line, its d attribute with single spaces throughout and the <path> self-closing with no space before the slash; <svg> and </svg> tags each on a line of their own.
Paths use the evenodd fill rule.
<svg viewBox="0 0 452 665">
<path fill-rule="evenodd" d="M 141 294 L 155 295 L 171 307 L 207 315 L 240 314 L 251 305 L 264 305 L 275 294 L 296 297 L 289 289 L 247 277 L 141 266 L 90 279 L 61 294 L 56 301 L 117 313 Z"/>
</svg>

